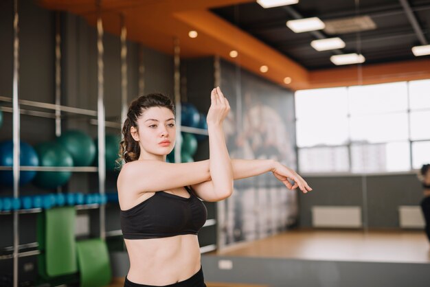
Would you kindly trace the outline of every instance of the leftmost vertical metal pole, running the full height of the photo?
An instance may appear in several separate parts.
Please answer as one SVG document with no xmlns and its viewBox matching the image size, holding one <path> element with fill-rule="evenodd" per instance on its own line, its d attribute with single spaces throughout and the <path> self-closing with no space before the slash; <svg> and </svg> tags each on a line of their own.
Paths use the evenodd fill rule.
<svg viewBox="0 0 430 287">
<path fill-rule="evenodd" d="M 13 71 L 13 176 L 14 176 L 14 198 L 19 197 L 19 154 L 20 154 L 20 139 L 19 139 L 19 26 L 18 26 L 18 0 L 14 0 L 14 71 Z M 13 286 L 18 286 L 18 246 L 19 246 L 19 216 L 18 212 L 14 211 L 14 252 L 13 252 L 13 264 L 14 264 L 14 274 L 13 274 Z"/>
</svg>

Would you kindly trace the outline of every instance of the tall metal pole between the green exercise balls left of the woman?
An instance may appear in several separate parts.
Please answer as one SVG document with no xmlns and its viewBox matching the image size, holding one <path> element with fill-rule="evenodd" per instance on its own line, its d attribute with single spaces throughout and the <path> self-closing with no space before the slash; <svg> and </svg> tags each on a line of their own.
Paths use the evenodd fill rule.
<svg viewBox="0 0 430 287">
<path fill-rule="evenodd" d="M 99 179 L 99 189 L 100 194 L 104 194 L 105 181 L 106 181 L 106 162 L 104 158 L 104 62 L 103 62 L 103 24 L 102 17 L 99 12 L 97 19 L 97 70 L 98 70 L 98 100 L 97 100 L 97 121 L 98 121 L 98 179 Z M 106 238 L 105 231 L 105 214 L 104 205 L 100 206 L 100 238 L 104 240 Z"/>
</svg>

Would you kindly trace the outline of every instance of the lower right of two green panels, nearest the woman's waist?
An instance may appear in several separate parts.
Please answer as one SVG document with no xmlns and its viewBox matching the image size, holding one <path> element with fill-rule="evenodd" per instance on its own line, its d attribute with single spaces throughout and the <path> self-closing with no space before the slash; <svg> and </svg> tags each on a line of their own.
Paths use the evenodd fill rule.
<svg viewBox="0 0 430 287">
<path fill-rule="evenodd" d="M 111 283 L 112 273 L 106 242 L 99 238 L 76 242 L 80 286 L 98 287 Z"/>
</svg>

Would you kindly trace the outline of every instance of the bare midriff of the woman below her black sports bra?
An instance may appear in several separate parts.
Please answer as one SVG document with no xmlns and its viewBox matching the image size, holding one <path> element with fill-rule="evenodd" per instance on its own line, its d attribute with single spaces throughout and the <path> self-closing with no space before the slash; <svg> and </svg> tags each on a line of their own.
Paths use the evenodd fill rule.
<svg viewBox="0 0 430 287">
<path fill-rule="evenodd" d="M 131 282 L 168 285 L 192 277 L 200 270 L 200 248 L 196 235 L 125 240 Z"/>
</svg>

